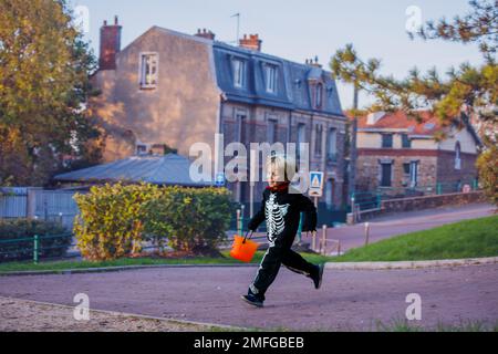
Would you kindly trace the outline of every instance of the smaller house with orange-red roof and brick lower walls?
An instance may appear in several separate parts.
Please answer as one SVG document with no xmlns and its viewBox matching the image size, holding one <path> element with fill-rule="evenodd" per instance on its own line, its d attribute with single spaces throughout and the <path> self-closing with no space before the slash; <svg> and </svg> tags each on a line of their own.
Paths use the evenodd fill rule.
<svg viewBox="0 0 498 354">
<path fill-rule="evenodd" d="M 443 126 L 430 112 L 418 115 L 376 112 L 359 118 L 356 190 L 440 194 L 475 186 L 481 143 L 466 116 Z"/>
</svg>

